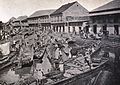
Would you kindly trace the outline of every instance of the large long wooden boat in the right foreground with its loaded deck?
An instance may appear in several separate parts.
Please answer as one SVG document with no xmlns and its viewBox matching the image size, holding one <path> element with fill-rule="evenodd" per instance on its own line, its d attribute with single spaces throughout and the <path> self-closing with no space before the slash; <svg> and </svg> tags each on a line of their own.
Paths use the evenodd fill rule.
<svg viewBox="0 0 120 85">
<path fill-rule="evenodd" d="M 103 57 L 104 53 L 100 53 L 100 48 L 98 50 L 93 53 L 94 55 L 97 53 L 98 57 L 94 57 L 91 54 L 93 57 L 93 67 L 91 69 L 87 66 L 85 69 L 81 69 L 81 66 L 75 64 L 76 61 L 81 60 L 79 57 L 70 59 L 64 63 L 64 72 L 53 73 L 53 75 L 47 74 L 46 79 L 48 82 L 44 85 L 89 85 L 94 81 L 98 73 L 105 68 L 108 62 L 108 59 Z M 49 82 L 49 79 L 52 81 Z"/>
</svg>

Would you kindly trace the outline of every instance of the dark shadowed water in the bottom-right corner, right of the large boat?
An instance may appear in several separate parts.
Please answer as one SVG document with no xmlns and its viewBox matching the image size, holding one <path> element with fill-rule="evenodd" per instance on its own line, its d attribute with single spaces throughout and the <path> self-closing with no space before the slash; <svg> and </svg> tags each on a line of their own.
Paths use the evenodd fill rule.
<svg viewBox="0 0 120 85">
<path fill-rule="evenodd" d="M 120 85 L 120 49 L 110 48 L 109 52 L 109 63 L 106 65 L 107 71 L 111 72 L 112 75 L 108 79 L 105 85 Z"/>
</svg>

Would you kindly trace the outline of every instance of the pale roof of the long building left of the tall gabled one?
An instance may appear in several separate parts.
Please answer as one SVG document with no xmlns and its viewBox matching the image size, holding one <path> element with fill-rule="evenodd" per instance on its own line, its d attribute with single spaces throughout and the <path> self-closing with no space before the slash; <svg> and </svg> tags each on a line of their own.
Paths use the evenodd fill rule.
<svg viewBox="0 0 120 85">
<path fill-rule="evenodd" d="M 52 10 L 38 10 L 38 11 L 34 12 L 32 15 L 30 15 L 29 18 L 50 15 L 54 11 L 55 11 L 54 9 L 52 9 Z"/>
</svg>

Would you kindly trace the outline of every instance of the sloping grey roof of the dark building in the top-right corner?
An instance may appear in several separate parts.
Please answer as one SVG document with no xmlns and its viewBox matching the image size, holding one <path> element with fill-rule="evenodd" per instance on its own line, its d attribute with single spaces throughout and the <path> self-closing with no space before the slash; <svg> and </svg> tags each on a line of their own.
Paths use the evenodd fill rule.
<svg viewBox="0 0 120 85">
<path fill-rule="evenodd" d="M 94 10 L 92 10 L 90 13 L 96 13 L 96 12 L 104 12 L 104 11 L 112 11 L 114 9 L 120 10 L 120 0 L 113 0 L 101 7 L 98 7 Z"/>
</svg>

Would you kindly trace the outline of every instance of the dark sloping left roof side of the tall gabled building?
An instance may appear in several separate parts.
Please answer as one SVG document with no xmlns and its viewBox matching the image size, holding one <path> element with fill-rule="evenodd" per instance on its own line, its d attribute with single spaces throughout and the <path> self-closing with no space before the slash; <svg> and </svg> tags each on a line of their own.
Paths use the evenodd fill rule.
<svg viewBox="0 0 120 85">
<path fill-rule="evenodd" d="M 77 1 L 75 2 L 72 2 L 72 3 L 68 3 L 68 4 L 65 4 L 65 5 L 62 5 L 59 9 L 57 9 L 55 12 L 53 12 L 51 15 L 54 15 L 54 14 L 60 14 L 62 12 L 64 12 L 65 10 L 67 10 L 69 7 L 71 7 L 73 4 L 75 4 Z"/>
</svg>

